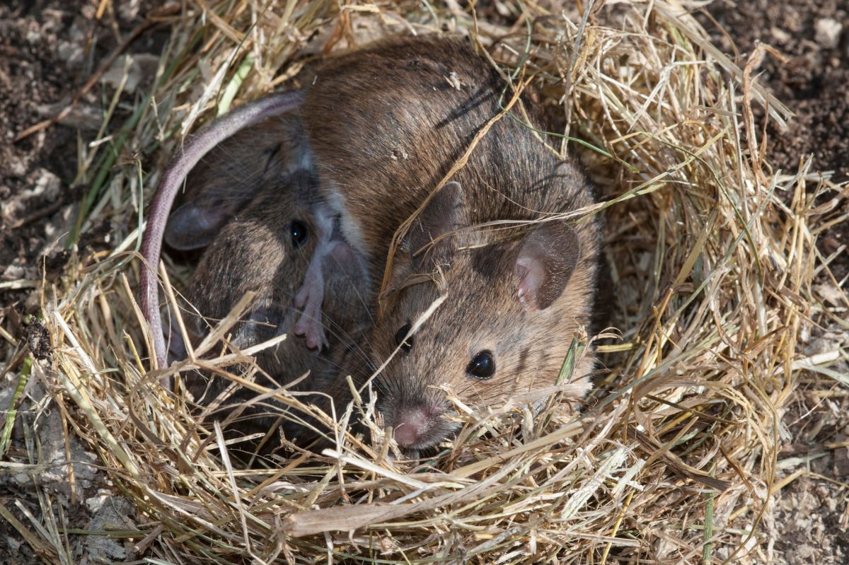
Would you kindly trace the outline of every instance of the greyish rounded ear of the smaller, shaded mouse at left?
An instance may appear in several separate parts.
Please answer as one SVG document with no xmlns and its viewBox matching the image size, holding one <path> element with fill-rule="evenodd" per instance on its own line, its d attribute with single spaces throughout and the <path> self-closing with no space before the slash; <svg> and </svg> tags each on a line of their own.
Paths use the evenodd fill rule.
<svg viewBox="0 0 849 565">
<path fill-rule="evenodd" d="M 198 198 L 183 204 L 168 217 L 165 241 L 173 249 L 188 251 L 206 247 L 228 220 L 231 206 Z"/>
</svg>

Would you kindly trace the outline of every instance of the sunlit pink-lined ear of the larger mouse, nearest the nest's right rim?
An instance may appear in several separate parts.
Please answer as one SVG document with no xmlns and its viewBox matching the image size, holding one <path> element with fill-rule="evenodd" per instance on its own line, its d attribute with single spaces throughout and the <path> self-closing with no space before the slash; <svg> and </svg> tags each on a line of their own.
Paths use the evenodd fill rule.
<svg viewBox="0 0 849 565">
<path fill-rule="evenodd" d="M 531 310 L 545 310 L 563 294 L 581 257 L 581 243 L 565 221 L 546 221 L 525 236 L 516 257 L 518 295 Z"/>
</svg>

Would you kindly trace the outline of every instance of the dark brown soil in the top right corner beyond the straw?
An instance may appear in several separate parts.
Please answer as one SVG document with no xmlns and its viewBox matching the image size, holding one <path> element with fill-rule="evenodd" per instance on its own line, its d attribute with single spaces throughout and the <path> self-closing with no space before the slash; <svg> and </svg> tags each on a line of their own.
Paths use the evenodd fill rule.
<svg viewBox="0 0 849 565">
<path fill-rule="evenodd" d="M 745 62 L 756 42 L 777 48 L 786 62 L 769 56 L 760 81 L 796 113 L 788 131 L 770 127 L 769 157 L 784 171 L 796 171 L 802 155 L 814 154 L 814 170 L 849 178 L 849 4 L 838 0 L 805 3 L 756 0 L 714 3 L 709 12 L 734 38 Z M 707 25 L 711 29 L 710 25 Z M 730 50 L 727 36 L 717 43 Z"/>
</svg>

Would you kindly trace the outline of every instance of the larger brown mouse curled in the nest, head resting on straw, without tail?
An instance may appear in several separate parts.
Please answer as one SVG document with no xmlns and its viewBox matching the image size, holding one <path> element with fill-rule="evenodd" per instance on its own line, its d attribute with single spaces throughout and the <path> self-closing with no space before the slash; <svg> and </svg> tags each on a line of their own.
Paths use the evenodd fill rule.
<svg viewBox="0 0 849 565">
<path fill-rule="evenodd" d="M 340 219 L 374 293 L 396 230 L 510 97 L 463 40 L 382 42 L 318 70 L 301 108 L 321 177 L 323 204 L 313 210 Z M 368 334 L 374 365 L 386 363 L 374 379 L 377 406 L 403 448 L 451 434 L 442 386 L 468 406 L 492 406 L 554 384 L 590 322 L 599 224 L 563 215 L 593 204 L 593 189 L 514 115 L 424 206 Z M 590 355 L 570 395 L 586 393 L 592 368 Z"/>
</svg>

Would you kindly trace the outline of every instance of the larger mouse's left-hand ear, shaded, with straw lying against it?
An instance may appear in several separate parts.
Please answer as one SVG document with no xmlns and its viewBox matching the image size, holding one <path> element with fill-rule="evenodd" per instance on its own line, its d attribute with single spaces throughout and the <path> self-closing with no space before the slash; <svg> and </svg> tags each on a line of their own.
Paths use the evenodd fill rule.
<svg viewBox="0 0 849 565">
<path fill-rule="evenodd" d="M 457 249 L 457 238 L 441 236 L 468 223 L 463 187 L 459 182 L 449 182 L 434 194 L 410 227 L 407 239 L 413 268 L 419 272 L 432 271 L 437 265 L 450 263 Z M 425 246 L 430 249 L 423 249 Z"/>
</svg>

